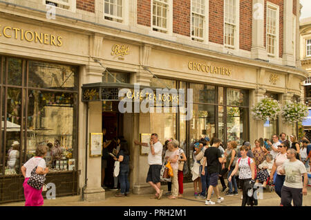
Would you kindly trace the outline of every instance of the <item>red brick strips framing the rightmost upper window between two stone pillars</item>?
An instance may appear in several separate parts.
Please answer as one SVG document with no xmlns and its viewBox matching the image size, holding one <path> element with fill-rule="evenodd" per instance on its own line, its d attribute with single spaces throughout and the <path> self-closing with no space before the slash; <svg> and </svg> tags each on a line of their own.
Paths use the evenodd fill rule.
<svg viewBox="0 0 311 220">
<path fill-rule="evenodd" d="M 279 6 L 279 57 L 283 57 L 283 15 L 284 15 L 284 3 L 283 0 L 269 0 L 269 2 L 276 4 Z M 264 42 L 263 44 L 266 46 L 266 34 L 267 34 L 267 0 L 265 0 L 265 26 L 264 26 Z"/>
</svg>

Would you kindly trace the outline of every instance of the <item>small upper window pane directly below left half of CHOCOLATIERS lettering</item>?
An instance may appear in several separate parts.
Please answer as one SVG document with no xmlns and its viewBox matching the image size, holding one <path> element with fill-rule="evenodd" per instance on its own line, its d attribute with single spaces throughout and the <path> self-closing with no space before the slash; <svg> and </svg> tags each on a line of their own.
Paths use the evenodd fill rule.
<svg viewBox="0 0 311 220">
<path fill-rule="evenodd" d="M 190 84 L 195 103 L 216 103 L 216 88 L 205 84 Z"/>
</svg>

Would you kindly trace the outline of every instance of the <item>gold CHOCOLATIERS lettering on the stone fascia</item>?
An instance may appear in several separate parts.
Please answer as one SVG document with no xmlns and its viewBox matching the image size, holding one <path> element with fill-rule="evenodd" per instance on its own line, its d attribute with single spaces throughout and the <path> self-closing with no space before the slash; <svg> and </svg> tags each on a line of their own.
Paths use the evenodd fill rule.
<svg viewBox="0 0 311 220">
<path fill-rule="evenodd" d="M 188 68 L 191 71 L 200 71 L 217 75 L 232 75 L 232 69 L 223 66 L 211 66 L 209 64 L 201 64 L 197 62 L 188 62 Z"/>
</svg>

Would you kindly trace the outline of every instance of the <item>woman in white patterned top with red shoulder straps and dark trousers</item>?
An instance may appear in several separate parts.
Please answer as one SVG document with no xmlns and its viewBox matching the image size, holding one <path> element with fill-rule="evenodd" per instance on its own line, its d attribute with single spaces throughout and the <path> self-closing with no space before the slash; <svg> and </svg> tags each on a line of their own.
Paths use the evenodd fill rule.
<svg viewBox="0 0 311 220">
<path fill-rule="evenodd" d="M 232 176 L 236 174 L 238 169 L 240 168 L 240 172 L 238 174 L 238 178 L 240 179 L 240 183 L 243 186 L 243 201 L 242 206 L 245 206 L 247 203 L 247 183 L 251 183 L 254 186 L 255 183 L 255 163 L 252 158 L 247 156 L 248 147 L 243 145 L 241 147 L 241 158 L 238 158 L 236 161 L 236 167 L 232 174 L 230 174 L 228 181 L 231 181 Z"/>
</svg>

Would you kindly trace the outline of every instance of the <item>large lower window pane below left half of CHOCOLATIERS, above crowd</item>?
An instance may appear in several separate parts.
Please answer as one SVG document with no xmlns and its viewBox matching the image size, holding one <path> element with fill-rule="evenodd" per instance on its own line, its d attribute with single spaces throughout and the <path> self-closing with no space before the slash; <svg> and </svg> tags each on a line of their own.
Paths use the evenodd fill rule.
<svg viewBox="0 0 311 220">
<path fill-rule="evenodd" d="M 215 137 L 215 106 L 194 104 L 189 131 L 191 142 L 200 138 Z"/>
</svg>

